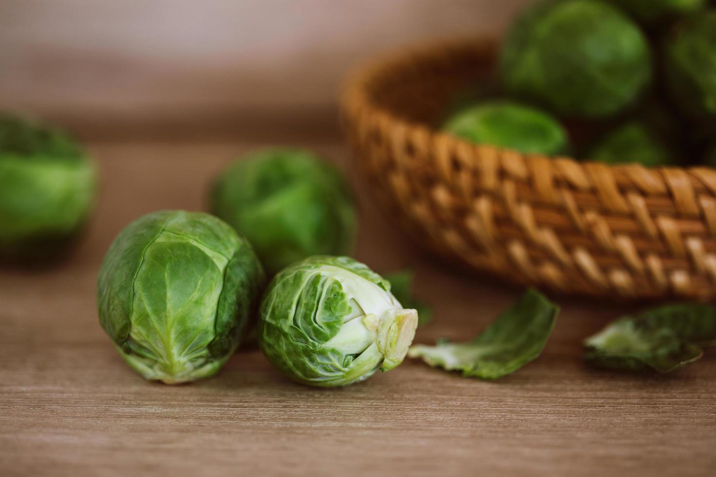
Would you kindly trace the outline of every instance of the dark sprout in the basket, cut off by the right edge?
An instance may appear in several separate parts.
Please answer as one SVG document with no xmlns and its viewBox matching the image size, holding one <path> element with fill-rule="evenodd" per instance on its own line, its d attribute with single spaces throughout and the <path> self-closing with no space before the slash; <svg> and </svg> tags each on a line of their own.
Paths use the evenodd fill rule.
<svg viewBox="0 0 716 477">
<path fill-rule="evenodd" d="M 716 10 L 690 17 L 667 39 L 666 74 L 674 102 L 692 118 L 716 124 Z"/>
</svg>

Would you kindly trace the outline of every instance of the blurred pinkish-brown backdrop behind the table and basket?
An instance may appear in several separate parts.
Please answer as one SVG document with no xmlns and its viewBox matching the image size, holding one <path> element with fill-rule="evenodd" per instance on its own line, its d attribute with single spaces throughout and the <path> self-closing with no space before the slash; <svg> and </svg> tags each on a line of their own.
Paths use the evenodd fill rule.
<svg viewBox="0 0 716 477">
<path fill-rule="evenodd" d="M 333 132 L 339 84 L 357 62 L 498 34 L 527 3 L 2 0 L 0 105 L 91 139 Z"/>
</svg>

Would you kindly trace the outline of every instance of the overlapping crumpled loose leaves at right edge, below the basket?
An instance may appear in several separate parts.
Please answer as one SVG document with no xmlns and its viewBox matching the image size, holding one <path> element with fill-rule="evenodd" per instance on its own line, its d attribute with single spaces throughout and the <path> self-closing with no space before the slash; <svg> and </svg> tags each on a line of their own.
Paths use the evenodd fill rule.
<svg viewBox="0 0 716 477">
<path fill-rule="evenodd" d="M 716 345 L 716 308 L 690 303 L 654 308 L 614 321 L 585 345 L 585 358 L 604 368 L 668 373 L 701 358 L 701 346 Z"/>
</svg>

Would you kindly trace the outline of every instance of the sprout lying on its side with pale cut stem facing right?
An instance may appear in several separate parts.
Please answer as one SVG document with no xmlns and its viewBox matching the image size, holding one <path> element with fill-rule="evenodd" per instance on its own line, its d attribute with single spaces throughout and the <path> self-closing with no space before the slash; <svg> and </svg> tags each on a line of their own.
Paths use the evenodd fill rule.
<svg viewBox="0 0 716 477">
<path fill-rule="evenodd" d="M 315 256 L 279 272 L 263 295 L 258 343 L 300 383 L 344 386 L 402 363 L 417 328 L 390 283 L 349 257 Z"/>
</svg>

